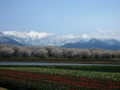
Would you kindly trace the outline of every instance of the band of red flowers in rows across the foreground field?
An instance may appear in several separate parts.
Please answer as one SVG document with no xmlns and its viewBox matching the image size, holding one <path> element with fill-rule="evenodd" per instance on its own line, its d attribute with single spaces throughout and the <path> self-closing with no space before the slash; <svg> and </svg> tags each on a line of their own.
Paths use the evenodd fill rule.
<svg viewBox="0 0 120 90">
<path fill-rule="evenodd" d="M 52 87 L 60 86 L 62 89 L 75 89 L 75 88 L 91 88 L 91 89 L 119 89 L 120 81 L 106 80 L 106 79 L 93 79 L 85 77 L 74 77 L 64 75 L 52 75 L 46 73 L 33 73 L 27 71 L 15 71 L 0 69 L 0 78 L 9 80 L 23 81 L 27 83 L 51 85 Z"/>
</svg>

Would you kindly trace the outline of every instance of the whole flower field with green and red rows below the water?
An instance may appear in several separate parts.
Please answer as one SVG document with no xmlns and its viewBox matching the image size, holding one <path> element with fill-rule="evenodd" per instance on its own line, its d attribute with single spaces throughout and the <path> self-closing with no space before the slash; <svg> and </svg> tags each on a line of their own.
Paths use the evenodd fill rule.
<svg viewBox="0 0 120 90">
<path fill-rule="evenodd" d="M 1 65 L 0 79 L 12 90 L 119 90 L 120 66 Z"/>
</svg>

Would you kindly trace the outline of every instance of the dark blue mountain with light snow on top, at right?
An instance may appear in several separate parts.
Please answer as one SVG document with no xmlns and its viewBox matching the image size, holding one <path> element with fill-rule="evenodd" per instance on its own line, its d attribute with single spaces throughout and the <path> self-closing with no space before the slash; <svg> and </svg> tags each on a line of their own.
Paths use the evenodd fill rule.
<svg viewBox="0 0 120 90">
<path fill-rule="evenodd" d="M 100 49 L 112 49 L 112 50 L 120 50 L 120 42 L 115 39 L 90 39 L 90 40 L 82 40 L 77 43 L 67 43 L 61 47 L 66 48 L 100 48 Z"/>
</svg>

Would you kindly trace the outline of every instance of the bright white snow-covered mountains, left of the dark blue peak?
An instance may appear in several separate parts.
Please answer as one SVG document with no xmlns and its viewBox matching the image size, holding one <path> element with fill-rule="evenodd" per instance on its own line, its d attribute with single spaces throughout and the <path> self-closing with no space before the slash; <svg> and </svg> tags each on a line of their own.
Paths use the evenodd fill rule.
<svg viewBox="0 0 120 90">
<path fill-rule="evenodd" d="M 38 33 L 35 31 L 4 31 L 5 36 L 10 37 L 20 43 L 31 46 L 61 46 L 66 43 L 75 43 L 81 40 L 81 36 L 70 35 L 54 35 L 51 33 Z"/>
</svg>

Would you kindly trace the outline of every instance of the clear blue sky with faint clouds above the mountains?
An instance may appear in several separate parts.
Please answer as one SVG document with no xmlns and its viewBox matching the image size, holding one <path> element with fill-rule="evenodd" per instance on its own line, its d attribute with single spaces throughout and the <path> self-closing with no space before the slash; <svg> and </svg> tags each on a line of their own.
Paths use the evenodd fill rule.
<svg viewBox="0 0 120 90">
<path fill-rule="evenodd" d="M 0 32 L 120 39 L 120 0 L 0 0 Z"/>
</svg>

